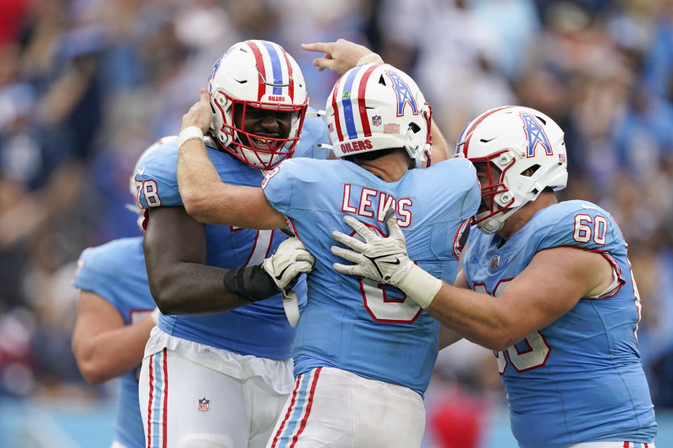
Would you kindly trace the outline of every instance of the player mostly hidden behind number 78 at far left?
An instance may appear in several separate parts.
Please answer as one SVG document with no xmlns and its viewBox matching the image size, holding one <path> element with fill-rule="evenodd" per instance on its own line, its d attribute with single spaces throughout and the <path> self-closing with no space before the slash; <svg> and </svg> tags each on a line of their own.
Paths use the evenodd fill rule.
<svg viewBox="0 0 673 448">
<path fill-rule="evenodd" d="M 130 181 L 135 198 L 135 179 Z M 147 284 L 142 237 L 116 239 L 83 251 L 74 285 L 80 289 L 72 335 L 79 370 L 92 384 L 119 377 L 111 448 L 143 448 L 138 375 L 158 309 Z"/>
</svg>

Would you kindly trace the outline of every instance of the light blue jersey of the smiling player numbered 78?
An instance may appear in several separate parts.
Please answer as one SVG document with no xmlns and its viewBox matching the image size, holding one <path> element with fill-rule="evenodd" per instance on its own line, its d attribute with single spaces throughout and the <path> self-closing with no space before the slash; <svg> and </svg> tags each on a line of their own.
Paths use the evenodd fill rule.
<svg viewBox="0 0 673 448">
<path fill-rule="evenodd" d="M 327 127 L 320 118 L 304 120 L 295 155 L 325 158 L 317 144 L 327 139 Z M 208 148 L 208 157 L 222 181 L 239 186 L 259 187 L 261 170 L 252 168 L 229 153 Z M 156 151 L 140 163 L 135 180 L 140 185 L 140 204 L 149 207 L 182 207 L 177 186 L 177 140 L 162 139 Z M 229 225 L 205 225 L 206 264 L 231 269 L 259 265 L 287 237 L 278 230 L 250 230 Z M 306 302 L 306 280 L 301 276 L 294 287 L 300 306 Z M 158 327 L 170 335 L 218 349 L 275 360 L 290 358 L 294 329 L 287 323 L 281 295 L 254 302 L 226 313 L 209 316 L 159 316 Z"/>
</svg>

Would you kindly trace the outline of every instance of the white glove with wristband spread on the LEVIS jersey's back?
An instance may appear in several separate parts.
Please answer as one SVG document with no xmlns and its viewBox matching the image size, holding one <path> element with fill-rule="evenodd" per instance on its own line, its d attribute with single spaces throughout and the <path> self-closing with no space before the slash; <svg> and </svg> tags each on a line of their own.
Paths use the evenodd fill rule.
<svg viewBox="0 0 673 448">
<path fill-rule="evenodd" d="M 409 260 L 407 241 L 400 226 L 397 225 L 395 210 L 386 210 L 385 219 L 388 237 L 381 237 L 352 216 L 344 216 L 344 222 L 365 242 L 336 230 L 332 232 L 332 238 L 353 249 L 349 251 L 346 248 L 332 246 L 332 253 L 355 263 L 353 265 L 334 263 L 334 270 L 341 274 L 363 276 L 378 283 L 393 285 L 403 290 L 425 309 L 442 287 L 442 281 Z"/>
</svg>

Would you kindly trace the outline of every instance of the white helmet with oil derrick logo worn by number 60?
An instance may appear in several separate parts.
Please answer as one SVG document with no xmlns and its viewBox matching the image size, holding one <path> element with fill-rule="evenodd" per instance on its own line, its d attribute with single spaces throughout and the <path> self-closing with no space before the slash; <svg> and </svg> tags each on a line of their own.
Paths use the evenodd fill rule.
<svg viewBox="0 0 673 448">
<path fill-rule="evenodd" d="M 489 186 L 482 187 L 482 207 L 488 209 L 473 221 L 486 233 L 501 230 L 505 219 L 545 188 L 562 190 L 568 181 L 563 130 L 529 107 L 503 106 L 482 113 L 458 137 L 456 157 L 487 162 Z M 491 175 L 493 167 L 502 173 L 498 179 Z"/>
</svg>

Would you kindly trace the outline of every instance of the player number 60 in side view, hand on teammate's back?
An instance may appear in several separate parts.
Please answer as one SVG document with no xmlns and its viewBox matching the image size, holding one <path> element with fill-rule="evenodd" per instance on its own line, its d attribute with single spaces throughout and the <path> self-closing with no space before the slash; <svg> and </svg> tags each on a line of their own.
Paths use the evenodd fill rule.
<svg viewBox="0 0 673 448">
<path fill-rule="evenodd" d="M 414 265 L 392 214 L 388 238 L 357 221 L 366 243 L 335 232 L 354 249 L 335 253 L 355 264 L 334 268 L 397 286 L 493 349 L 520 447 L 653 448 L 627 244 L 604 209 L 557 202 L 568 176 L 561 128 L 534 109 L 492 109 L 465 127 L 457 154 L 475 164 L 482 186 L 481 232 L 468 238 L 460 288 Z"/>
</svg>

